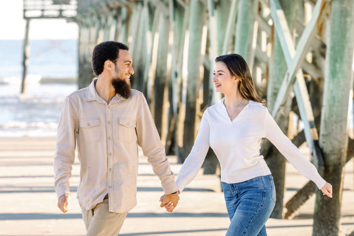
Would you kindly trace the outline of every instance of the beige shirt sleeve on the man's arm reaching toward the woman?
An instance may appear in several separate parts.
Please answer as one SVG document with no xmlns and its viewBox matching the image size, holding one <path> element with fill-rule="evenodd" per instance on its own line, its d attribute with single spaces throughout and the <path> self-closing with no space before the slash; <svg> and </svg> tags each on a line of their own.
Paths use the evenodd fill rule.
<svg viewBox="0 0 354 236">
<path fill-rule="evenodd" d="M 165 147 L 160 140 L 154 120 L 144 95 L 141 95 L 137 111 L 136 133 L 138 144 L 154 173 L 160 178 L 165 194 L 176 192 L 175 175 L 171 171 L 169 160 L 166 158 Z"/>
</svg>

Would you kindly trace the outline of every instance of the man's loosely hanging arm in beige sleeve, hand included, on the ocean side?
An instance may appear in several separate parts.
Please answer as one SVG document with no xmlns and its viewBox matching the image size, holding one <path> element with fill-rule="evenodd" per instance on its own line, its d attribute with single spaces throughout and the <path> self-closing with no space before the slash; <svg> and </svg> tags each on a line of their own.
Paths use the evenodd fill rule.
<svg viewBox="0 0 354 236">
<path fill-rule="evenodd" d="M 79 121 L 72 101 L 65 98 L 59 118 L 57 142 L 53 161 L 54 187 L 58 198 L 58 207 L 64 213 L 69 210 L 69 178 L 75 159 L 76 133 Z"/>
</svg>

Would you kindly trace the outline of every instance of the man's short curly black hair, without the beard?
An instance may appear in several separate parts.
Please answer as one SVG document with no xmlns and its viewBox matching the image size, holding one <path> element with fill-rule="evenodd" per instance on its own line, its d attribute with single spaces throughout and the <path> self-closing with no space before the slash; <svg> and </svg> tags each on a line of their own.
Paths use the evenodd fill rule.
<svg viewBox="0 0 354 236">
<path fill-rule="evenodd" d="M 103 72 L 104 62 L 113 61 L 115 64 L 118 60 L 119 49 L 129 50 L 128 46 L 120 42 L 107 41 L 96 45 L 92 53 L 92 70 L 97 76 Z"/>
</svg>

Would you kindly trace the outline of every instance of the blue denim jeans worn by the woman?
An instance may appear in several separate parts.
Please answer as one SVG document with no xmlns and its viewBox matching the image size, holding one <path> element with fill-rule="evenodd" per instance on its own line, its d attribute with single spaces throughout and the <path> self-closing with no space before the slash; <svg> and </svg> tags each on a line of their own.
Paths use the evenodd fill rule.
<svg viewBox="0 0 354 236">
<path fill-rule="evenodd" d="M 234 184 L 221 183 L 231 220 L 226 236 L 266 236 L 265 222 L 275 205 L 273 176 L 259 176 Z"/>
</svg>

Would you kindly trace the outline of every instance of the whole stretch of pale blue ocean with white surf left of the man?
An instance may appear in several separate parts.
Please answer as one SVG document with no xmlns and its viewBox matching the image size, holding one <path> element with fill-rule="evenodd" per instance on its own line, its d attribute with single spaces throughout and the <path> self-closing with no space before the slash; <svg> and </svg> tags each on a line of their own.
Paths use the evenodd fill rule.
<svg viewBox="0 0 354 236">
<path fill-rule="evenodd" d="M 78 86 L 40 81 L 77 77 L 77 40 L 30 41 L 26 94 L 20 94 L 22 48 L 21 40 L 0 40 L 0 136 L 56 136 L 65 96 Z"/>
</svg>

